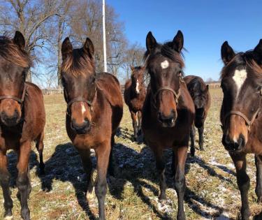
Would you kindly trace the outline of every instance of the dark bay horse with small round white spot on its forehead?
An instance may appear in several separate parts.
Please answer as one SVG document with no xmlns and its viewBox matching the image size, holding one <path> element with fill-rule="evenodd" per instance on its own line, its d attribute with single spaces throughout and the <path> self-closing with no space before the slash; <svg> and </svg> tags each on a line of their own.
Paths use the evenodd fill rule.
<svg viewBox="0 0 262 220">
<path fill-rule="evenodd" d="M 154 152 L 160 179 L 160 200 L 166 200 L 165 163 L 163 149 L 173 148 L 173 174 L 178 197 L 177 219 L 185 219 L 184 165 L 187 159 L 189 132 L 194 122 L 195 108 L 187 85 L 182 80 L 184 61 L 181 31 L 173 41 L 160 44 L 150 31 L 146 38 L 145 66 L 150 85 L 143 106 L 142 129 L 145 142 Z"/>
</svg>

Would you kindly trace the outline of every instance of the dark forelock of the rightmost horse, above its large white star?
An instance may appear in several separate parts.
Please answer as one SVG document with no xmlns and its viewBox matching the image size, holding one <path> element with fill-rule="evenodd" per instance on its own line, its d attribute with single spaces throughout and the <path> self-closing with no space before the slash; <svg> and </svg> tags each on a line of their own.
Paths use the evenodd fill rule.
<svg viewBox="0 0 262 220">
<path fill-rule="evenodd" d="M 235 68 L 246 68 L 247 66 L 251 68 L 254 73 L 258 75 L 262 74 L 262 66 L 257 63 L 254 50 L 236 54 L 235 57 L 222 68 L 221 78 L 224 78 L 228 72 L 233 71 Z"/>
</svg>

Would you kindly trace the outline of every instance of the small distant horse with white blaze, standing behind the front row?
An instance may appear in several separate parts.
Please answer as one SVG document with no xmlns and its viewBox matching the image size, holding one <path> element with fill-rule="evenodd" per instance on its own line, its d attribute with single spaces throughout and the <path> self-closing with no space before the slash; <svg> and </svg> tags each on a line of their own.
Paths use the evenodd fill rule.
<svg viewBox="0 0 262 220">
<path fill-rule="evenodd" d="M 137 140 L 141 133 L 142 109 L 145 101 L 144 66 L 131 66 L 131 79 L 124 85 L 124 101 L 129 106 L 129 112 L 133 122 L 133 137 Z M 138 118 L 138 123 L 137 123 Z"/>
</svg>

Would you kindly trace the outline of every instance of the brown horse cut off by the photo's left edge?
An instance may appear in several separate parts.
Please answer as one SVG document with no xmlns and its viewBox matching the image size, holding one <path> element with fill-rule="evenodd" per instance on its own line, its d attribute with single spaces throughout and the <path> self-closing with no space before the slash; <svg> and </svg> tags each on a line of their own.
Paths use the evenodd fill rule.
<svg viewBox="0 0 262 220">
<path fill-rule="evenodd" d="M 24 42 L 24 36 L 19 31 L 15 32 L 13 40 L 0 37 L 0 184 L 3 189 L 4 217 L 12 219 L 13 200 L 9 191 L 10 174 L 6 151 L 13 149 L 18 154 L 16 186 L 21 202 L 21 216 L 28 220 L 31 142 L 36 141 L 40 172 L 43 173 L 45 108 L 41 89 L 25 82 L 31 60 L 24 51 Z"/>
</svg>

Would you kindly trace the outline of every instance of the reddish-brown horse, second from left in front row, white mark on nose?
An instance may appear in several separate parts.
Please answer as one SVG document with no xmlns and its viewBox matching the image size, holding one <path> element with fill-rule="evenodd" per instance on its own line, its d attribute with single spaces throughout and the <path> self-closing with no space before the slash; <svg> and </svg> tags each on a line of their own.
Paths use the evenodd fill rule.
<svg viewBox="0 0 262 220">
<path fill-rule="evenodd" d="M 66 131 L 80 154 L 87 174 L 87 193 L 94 182 L 90 149 L 97 159 L 96 197 L 99 219 L 105 219 L 106 175 L 114 175 L 112 147 L 123 115 L 120 85 L 110 73 L 96 73 L 94 45 L 87 38 L 81 48 L 73 49 L 69 38 L 61 45 L 61 82 L 67 103 Z M 109 161 L 109 167 L 108 167 Z"/>
</svg>

